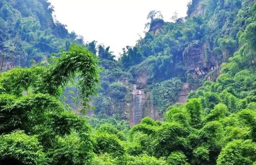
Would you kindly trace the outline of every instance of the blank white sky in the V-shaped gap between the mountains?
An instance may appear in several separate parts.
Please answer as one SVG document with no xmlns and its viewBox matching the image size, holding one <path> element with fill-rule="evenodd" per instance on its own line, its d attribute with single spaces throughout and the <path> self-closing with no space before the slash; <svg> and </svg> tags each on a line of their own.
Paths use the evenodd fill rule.
<svg viewBox="0 0 256 165">
<path fill-rule="evenodd" d="M 122 48 L 134 46 L 144 36 L 150 10 L 160 10 L 165 21 L 176 11 L 186 16 L 190 0 L 48 0 L 54 15 L 70 32 L 84 36 L 85 42 L 96 40 L 110 46 L 115 56 Z"/>
</svg>

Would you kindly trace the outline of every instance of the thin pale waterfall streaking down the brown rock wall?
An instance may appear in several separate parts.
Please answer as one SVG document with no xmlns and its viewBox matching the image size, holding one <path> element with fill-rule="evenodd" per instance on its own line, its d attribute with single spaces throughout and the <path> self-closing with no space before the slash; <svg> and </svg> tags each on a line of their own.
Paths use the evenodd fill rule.
<svg viewBox="0 0 256 165">
<path fill-rule="evenodd" d="M 136 88 L 136 84 L 132 89 L 132 104 L 130 110 L 130 125 L 140 123 L 145 108 L 145 94 L 142 90 Z"/>
</svg>

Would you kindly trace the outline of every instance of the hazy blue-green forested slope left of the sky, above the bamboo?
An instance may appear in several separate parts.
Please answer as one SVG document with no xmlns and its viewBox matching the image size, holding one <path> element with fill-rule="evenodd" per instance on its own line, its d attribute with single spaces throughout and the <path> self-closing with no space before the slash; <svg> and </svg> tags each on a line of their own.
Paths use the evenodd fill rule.
<svg viewBox="0 0 256 165">
<path fill-rule="evenodd" d="M 61 48 L 68 49 L 73 42 L 83 44 L 74 32 L 68 33 L 63 24 L 54 22 L 52 11 L 47 0 L 0 1 L 0 56 L 4 70 L 38 63 Z"/>
</svg>

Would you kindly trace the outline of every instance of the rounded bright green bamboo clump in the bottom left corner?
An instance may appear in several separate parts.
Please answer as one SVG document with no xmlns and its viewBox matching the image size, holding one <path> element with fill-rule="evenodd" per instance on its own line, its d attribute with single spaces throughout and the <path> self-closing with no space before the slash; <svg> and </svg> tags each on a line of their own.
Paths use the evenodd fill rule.
<svg viewBox="0 0 256 165">
<path fill-rule="evenodd" d="M 22 131 L 0 135 L 0 163 L 16 165 L 43 165 L 49 161 L 36 135 Z"/>
</svg>

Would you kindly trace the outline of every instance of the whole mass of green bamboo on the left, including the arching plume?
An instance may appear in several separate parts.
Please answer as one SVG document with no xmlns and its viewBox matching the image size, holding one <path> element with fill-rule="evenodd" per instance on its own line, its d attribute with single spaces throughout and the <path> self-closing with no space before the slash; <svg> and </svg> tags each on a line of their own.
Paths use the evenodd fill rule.
<svg viewBox="0 0 256 165">
<path fill-rule="evenodd" d="M 1 162 L 91 164 L 93 140 L 89 134 L 90 126 L 86 119 L 64 108 L 58 99 L 58 91 L 61 85 L 80 74 L 82 80 L 78 84 L 81 91 L 88 90 L 83 95 L 88 101 L 96 92 L 99 68 L 91 52 L 75 45 L 70 51 L 68 55 L 62 52 L 51 66 L 15 68 L 1 74 Z M 72 61 L 88 65 L 89 69 L 79 68 Z M 66 65 L 72 66 L 70 70 L 64 69 Z M 64 68 L 60 69 L 60 66 Z"/>
</svg>

